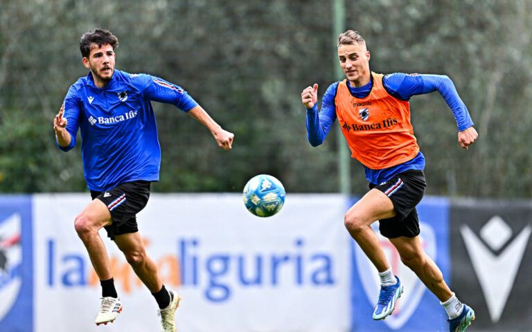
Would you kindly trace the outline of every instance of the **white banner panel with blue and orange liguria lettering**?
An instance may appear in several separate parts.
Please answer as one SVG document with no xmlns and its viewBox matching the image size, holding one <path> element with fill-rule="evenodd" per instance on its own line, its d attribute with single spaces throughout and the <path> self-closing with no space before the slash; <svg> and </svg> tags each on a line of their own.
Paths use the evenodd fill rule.
<svg viewBox="0 0 532 332">
<path fill-rule="evenodd" d="M 73 228 L 89 195 L 33 201 L 34 331 L 101 331 L 100 285 Z M 178 331 L 341 332 L 350 324 L 345 210 L 339 195 L 292 194 L 281 212 L 259 218 L 239 194 L 153 194 L 138 221 L 163 283 L 182 297 Z M 105 331 L 157 331 L 157 303 L 100 235 L 123 303 Z"/>
</svg>

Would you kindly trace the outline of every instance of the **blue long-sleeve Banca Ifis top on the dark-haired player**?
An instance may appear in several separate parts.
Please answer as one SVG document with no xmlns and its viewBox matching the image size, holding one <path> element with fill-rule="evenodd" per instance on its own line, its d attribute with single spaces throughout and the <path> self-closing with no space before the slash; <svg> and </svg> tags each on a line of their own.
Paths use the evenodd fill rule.
<svg viewBox="0 0 532 332">
<path fill-rule="evenodd" d="M 197 106 L 181 87 L 146 74 L 114 71 L 104 88 L 92 74 L 73 84 L 64 99 L 64 118 L 76 145 L 81 131 L 83 169 L 89 190 L 103 192 L 128 181 L 159 181 L 161 147 L 151 100 L 182 111 Z"/>
</svg>

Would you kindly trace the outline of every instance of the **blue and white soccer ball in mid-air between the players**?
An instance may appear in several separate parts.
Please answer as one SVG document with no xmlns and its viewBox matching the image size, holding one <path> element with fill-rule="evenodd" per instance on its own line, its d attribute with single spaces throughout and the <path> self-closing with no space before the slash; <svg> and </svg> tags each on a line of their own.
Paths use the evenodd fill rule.
<svg viewBox="0 0 532 332">
<path fill-rule="evenodd" d="M 242 199 L 256 216 L 273 216 L 285 203 L 285 187 L 271 175 L 260 174 L 247 181 Z"/>
</svg>

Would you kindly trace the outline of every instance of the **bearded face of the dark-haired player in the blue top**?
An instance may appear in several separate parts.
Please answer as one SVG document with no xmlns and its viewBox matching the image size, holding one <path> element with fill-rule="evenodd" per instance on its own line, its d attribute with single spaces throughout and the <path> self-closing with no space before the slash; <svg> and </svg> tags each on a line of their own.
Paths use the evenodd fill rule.
<svg viewBox="0 0 532 332">
<path fill-rule="evenodd" d="M 106 86 L 113 77 L 115 56 L 113 46 L 92 44 L 89 58 L 83 58 L 83 64 L 91 70 L 94 84 L 99 88 Z"/>
</svg>

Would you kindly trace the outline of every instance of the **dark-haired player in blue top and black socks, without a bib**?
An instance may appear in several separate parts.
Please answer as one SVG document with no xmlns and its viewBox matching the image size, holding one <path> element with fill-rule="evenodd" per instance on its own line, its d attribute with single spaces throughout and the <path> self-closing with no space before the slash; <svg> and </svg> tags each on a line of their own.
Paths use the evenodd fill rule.
<svg viewBox="0 0 532 332">
<path fill-rule="evenodd" d="M 162 331 L 175 331 L 179 295 L 161 282 L 146 255 L 136 223 L 159 181 L 161 149 L 151 101 L 174 104 L 211 131 L 222 149 L 231 149 L 233 133 L 225 131 L 181 87 L 159 77 L 115 70 L 118 39 L 108 30 L 82 35 L 80 50 L 89 74 L 73 84 L 53 120 L 57 146 L 69 151 L 82 138 L 82 159 L 93 201 L 76 217 L 74 227 L 85 244 L 102 286 L 96 324 L 113 322 L 122 310 L 111 264 L 98 230 L 124 253 L 139 279 L 159 305 Z"/>
</svg>

